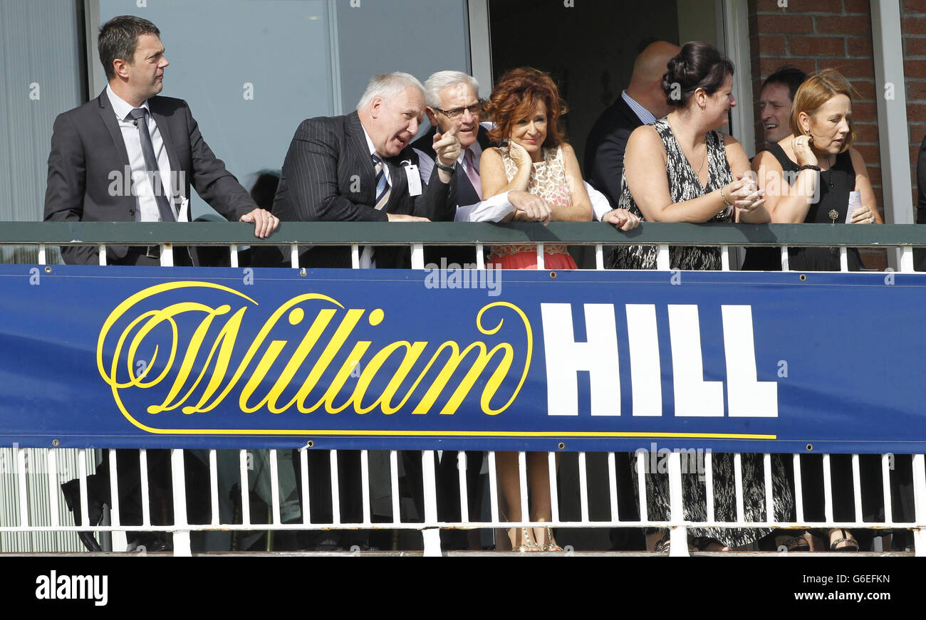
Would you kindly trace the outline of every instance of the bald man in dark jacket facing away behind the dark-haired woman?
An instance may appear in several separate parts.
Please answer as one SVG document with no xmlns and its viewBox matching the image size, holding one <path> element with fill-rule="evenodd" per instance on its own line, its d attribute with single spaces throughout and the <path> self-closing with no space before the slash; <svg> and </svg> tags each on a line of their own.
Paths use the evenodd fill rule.
<svg viewBox="0 0 926 620">
<path fill-rule="evenodd" d="M 624 149 L 632 130 L 669 114 L 662 76 L 680 49 L 665 41 L 650 43 L 633 61 L 627 90 L 594 121 L 585 143 L 585 180 L 618 205 Z"/>
</svg>

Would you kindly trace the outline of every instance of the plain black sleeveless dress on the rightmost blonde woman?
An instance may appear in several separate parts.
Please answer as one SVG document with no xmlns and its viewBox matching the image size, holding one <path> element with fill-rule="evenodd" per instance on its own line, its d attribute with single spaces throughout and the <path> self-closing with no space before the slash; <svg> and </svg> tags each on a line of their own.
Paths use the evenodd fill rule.
<svg viewBox="0 0 926 620">
<path fill-rule="evenodd" d="M 800 167 L 784 153 L 778 143 L 772 144 L 769 153 L 774 155 L 782 170 L 796 180 Z M 845 212 L 849 205 L 849 192 L 856 188 L 856 169 L 852 166 L 849 152 L 836 155 L 836 161 L 828 170 L 820 172 L 818 182 L 820 196 L 816 203 L 807 209 L 805 224 L 832 224 L 830 211 L 836 211 L 836 223 L 845 222 Z M 846 252 L 849 271 L 858 271 L 862 267 L 861 255 L 856 248 Z M 808 247 L 788 248 L 788 268 L 792 271 L 839 271 L 839 248 Z M 782 253 L 776 248 L 749 248 L 743 263 L 745 271 L 781 271 Z"/>
</svg>

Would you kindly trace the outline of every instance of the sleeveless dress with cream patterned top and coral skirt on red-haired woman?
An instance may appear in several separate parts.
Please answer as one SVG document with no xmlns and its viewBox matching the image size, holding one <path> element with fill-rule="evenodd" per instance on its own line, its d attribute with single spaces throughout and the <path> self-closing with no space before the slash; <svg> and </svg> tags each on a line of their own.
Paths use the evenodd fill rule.
<svg viewBox="0 0 926 620">
<path fill-rule="evenodd" d="M 505 163 L 505 176 L 510 183 L 518 174 L 518 166 L 508 152 L 507 146 L 498 148 Z M 551 205 L 572 206 L 569 185 L 566 184 L 566 165 L 563 163 L 563 149 L 544 148 L 543 161 L 535 162 L 531 168 L 531 180 L 527 191 L 540 196 Z M 503 269 L 536 269 L 537 249 L 532 245 L 495 245 L 489 254 L 489 263 Z M 565 245 L 544 243 L 544 269 L 577 269 Z"/>
</svg>

